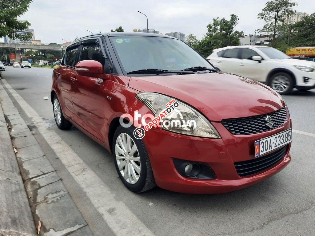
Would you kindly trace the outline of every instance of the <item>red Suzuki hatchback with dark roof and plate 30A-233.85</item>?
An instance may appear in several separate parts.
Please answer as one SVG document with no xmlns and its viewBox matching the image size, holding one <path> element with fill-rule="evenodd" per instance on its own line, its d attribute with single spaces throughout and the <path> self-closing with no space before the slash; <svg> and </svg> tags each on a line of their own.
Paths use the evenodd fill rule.
<svg viewBox="0 0 315 236">
<path fill-rule="evenodd" d="M 218 72 L 184 42 L 111 32 L 74 41 L 53 72 L 60 129 L 113 154 L 134 192 L 226 193 L 289 164 L 291 119 L 271 88 Z"/>
</svg>

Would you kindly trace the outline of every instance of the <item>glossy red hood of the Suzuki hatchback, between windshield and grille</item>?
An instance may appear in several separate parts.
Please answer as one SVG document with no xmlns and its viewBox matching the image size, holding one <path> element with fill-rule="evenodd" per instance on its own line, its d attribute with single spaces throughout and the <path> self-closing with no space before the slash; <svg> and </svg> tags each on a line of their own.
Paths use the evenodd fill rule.
<svg viewBox="0 0 315 236">
<path fill-rule="evenodd" d="M 198 109 L 210 121 L 263 115 L 284 106 L 282 97 L 271 88 L 222 72 L 130 77 L 129 87 L 181 100 Z"/>
</svg>

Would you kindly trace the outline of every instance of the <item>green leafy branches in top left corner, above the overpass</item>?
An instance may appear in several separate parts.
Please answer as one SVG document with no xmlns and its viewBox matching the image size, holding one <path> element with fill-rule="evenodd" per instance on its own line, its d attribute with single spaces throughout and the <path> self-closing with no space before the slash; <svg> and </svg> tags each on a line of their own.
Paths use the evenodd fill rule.
<svg viewBox="0 0 315 236">
<path fill-rule="evenodd" d="M 28 21 L 19 22 L 16 18 L 27 11 L 33 0 L 0 1 L 0 38 L 8 36 L 12 39 L 30 40 L 31 33 L 17 34 L 15 31 L 26 30 L 31 24 Z"/>
</svg>

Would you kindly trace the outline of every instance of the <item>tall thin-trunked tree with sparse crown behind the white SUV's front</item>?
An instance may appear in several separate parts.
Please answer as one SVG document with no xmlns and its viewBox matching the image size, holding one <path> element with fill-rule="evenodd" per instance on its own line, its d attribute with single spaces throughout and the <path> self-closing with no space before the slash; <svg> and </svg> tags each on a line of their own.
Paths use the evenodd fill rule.
<svg viewBox="0 0 315 236">
<path fill-rule="evenodd" d="M 295 14 L 292 7 L 297 3 L 291 0 L 271 0 L 266 3 L 266 7 L 258 14 L 258 19 L 264 20 L 265 25 L 258 32 L 270 33 L 273 36 L 273 44 L 276 44 L 277 28 L 280 22 L 284 22 L 287 15 Z"/>
</svg>

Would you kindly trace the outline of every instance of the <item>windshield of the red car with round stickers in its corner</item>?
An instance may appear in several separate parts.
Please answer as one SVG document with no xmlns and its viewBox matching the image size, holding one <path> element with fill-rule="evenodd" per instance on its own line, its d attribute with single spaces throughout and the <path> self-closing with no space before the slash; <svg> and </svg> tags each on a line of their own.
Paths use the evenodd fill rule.
<svg viewBox="0 0 315 236">
<path fill-rule="evenodd" d="M 214 70 L 207 60 L 177 39 L 150 36 L 110 38 L 127 73 L 143 69 L 179 71 L 196 66 Z"/>
</svg>

